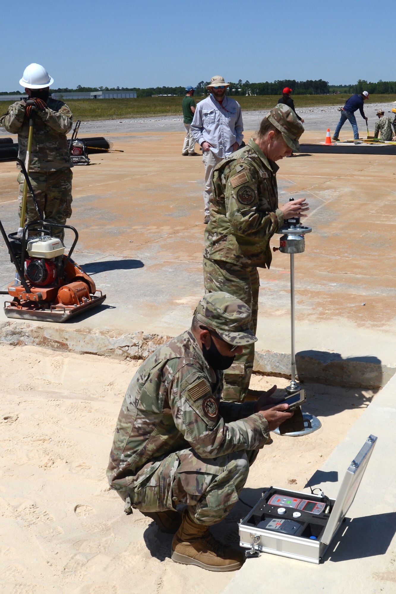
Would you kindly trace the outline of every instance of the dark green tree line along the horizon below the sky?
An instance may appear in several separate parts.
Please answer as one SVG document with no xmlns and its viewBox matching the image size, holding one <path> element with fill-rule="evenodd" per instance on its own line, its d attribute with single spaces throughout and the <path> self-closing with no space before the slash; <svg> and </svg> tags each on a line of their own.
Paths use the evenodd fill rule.
<svg viewBox="0 0 396 594">
<path fill-rule="evenodd" d="M 206 96 L 209 81 L 200 81 L 196 84 L 196 95 Z M 368 91 L 370 94 L 378 93 L 396 93 L 396 81 L 382 81 L 378 83 L 368 83 L 366 80 L 358 80 L 357 84 L 331 85 L 328 81 L 322 80 L 275 80 L 274 83 L 250 83 L 249 80 L 240 79 L 237 83 L 230 83 L 228 94 L 238 95 L 281 95 L 285 87 L 293 89 L 295 95 L 327 95 L 331 93 L 362 93 Z M 92 91 L 136 91 L 137 97 L 151 97 L 152 95 L 178 95 L 183 96 L 186 93 L 186 86 L 178 87 L 149 87 L 140 89 L 139 87 L 83 87 L 80 84 L 76 89 L 68 87 L 51 89 L 52 93 L 90 93 Z M 0 91 L 0 95 L 17 95 L 21 91 Z"/>
</svg>

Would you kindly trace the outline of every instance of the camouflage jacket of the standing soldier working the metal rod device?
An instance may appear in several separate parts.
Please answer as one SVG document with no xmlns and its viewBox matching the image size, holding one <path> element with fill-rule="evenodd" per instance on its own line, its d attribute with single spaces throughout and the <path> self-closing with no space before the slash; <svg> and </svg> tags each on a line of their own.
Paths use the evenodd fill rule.
<svg viewBox="0 0 396 594">
<path fill-rule="evenodd" d="M 278 208 L 278 169 L 252 139 L 215 167 L 205 258 L 269 268 L 269 240 L 284 220 Z"/>
</svg>

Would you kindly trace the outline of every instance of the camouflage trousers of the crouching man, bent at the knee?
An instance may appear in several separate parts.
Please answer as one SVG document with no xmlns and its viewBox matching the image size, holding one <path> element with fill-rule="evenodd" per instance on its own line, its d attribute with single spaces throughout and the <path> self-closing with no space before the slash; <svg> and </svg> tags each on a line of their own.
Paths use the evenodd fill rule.
<svg viewBox="0 0 396 594">
<path fill-rule="evenodd" d="M 203 459 L 187 448 L 169 454 L 161 462 L 147 463 L 144 479 L 140 470 L 140 482 L 118 494 L 124 500 L 129 495 L 132 506 L 141 511 L 175 510 L 179 504 L 188 505 L 197 524 L 212 526 L 228 516 L 237 503 L 257 453 L 242 450 Z"/>
</svg>

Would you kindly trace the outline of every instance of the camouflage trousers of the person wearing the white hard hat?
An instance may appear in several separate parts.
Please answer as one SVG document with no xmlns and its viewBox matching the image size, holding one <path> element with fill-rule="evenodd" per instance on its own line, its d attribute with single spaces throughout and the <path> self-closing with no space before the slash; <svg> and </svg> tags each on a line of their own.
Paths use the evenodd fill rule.
<svg viewBox="0 0 396 594">
<path fill-rule="evenodd" d="M 71 201 L 73 200 L 71 197 L 72 178 L 73 172 L 71 169 L 61 169 L 59 171 L 49 171 L 47 173 L 29 173 L 30 183 L 32 184 L 37 204 L 43 213 L 46 223 L 59 223 L 60 225 L 65 225 L 66 220 L 70 219 Z M 23 173 L 20 172 L 17 177 L 19 184 L 19 216 L 21 216 L 24 179 Z M 32 223 L 37 220 L 39 220 L 39 215 L 37 214 L 32 196 L 28 190 L 25 225 L 26 223 Z M 51 234 L 60 239 L 63 239 L 65 235 L 64 229 L 59 227 L 54 227 Z M 34 235 L 34 232 L 32 235 Z"/>
</svg>

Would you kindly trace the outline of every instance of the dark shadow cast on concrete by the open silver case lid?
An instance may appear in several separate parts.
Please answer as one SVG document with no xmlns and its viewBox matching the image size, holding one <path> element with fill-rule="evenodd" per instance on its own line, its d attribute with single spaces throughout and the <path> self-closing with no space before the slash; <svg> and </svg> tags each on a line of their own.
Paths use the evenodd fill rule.
<svg viewBox="0 0 396 594">
<path fill-rule="evenodd" d="M 385 555 L 396 532 L 396 511 L 347 518 L 328 548 L 325 561 L 350 561 Z"/>
</svg>

